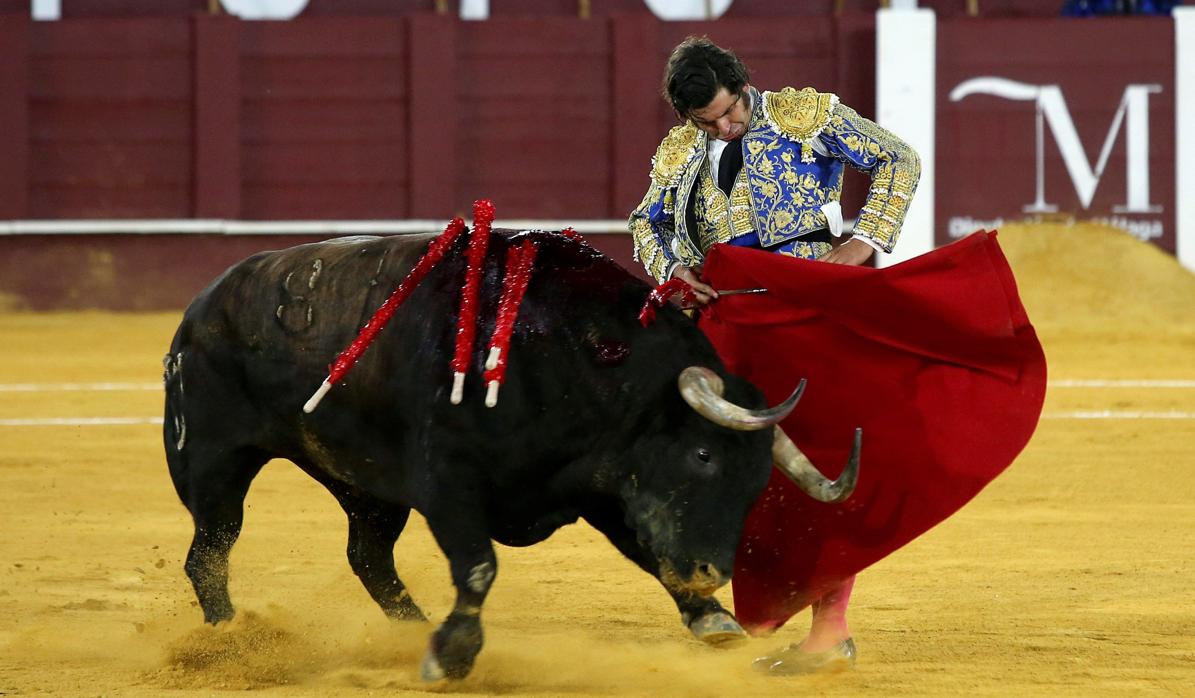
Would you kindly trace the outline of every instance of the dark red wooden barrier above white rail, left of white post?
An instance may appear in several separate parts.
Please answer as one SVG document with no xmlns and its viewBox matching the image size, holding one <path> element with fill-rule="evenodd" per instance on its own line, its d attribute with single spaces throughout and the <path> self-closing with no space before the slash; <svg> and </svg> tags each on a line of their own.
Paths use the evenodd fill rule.
<svg viewBox="0 0 1195 698">
<path fill-rule="evenodd" d="M 864 112 L 874 19 L 0 16 L 0 216 L 623 218 L 675 123 L 668 51 L 709 32 L 762 87 Z"/>
</svg>

